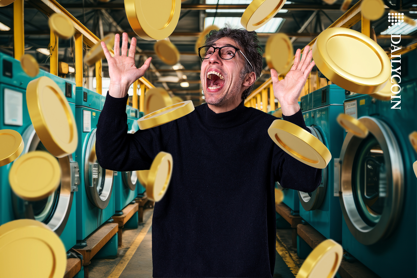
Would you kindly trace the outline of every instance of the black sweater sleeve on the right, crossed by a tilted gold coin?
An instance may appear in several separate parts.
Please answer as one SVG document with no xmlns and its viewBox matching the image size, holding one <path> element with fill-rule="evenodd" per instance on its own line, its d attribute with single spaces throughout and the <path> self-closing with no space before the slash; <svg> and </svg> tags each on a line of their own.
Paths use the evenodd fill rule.
<svg viewBox="0 0 417 278">
<path fill-rule="evenodd" d="M 310 132 L 306 127 L 301 110 L 290 116 L 283 115 L 283 118 Z M 275 171 L 275 180 L 283 188 L 313 192 L 322 181 L 322 169 L 311 167 L 296 160 L 277 145 L 274 145 L 272 165 Z"/>
</svg>

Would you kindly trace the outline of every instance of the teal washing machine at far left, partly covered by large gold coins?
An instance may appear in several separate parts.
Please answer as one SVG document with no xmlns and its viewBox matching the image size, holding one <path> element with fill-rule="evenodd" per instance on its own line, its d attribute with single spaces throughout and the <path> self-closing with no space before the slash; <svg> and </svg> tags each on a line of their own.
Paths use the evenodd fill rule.
<svg viewBox="0 0 417 278">
<path fill-rule="evenodd" d="M 23 138 L 25 147 L 21 155 L 33 150 L 48 151 L 40 142 L 32 122 L 30 121 L 26 105 L 26 90 L 30 80 L 48 75 L 69 95 L 73 92 L 74 83 L 65 84 L 65 80 L 50 76 L 40 71 L 35 78 L 30 78 L 20 67 L 20 62 L 7 55 L 0 54 L 1 97 L 3 113 L 1 115 L 1 129 L 17 130 Z M 69 90 L 69 92 L 68 92 Z M 70 107 L 75 112 L 75 98 L 67 97 Z M 13 163 L 1 167 L 1 222 L 13 219 L 32 218 L 47 224 L 57 233 L 69 250 L 76 243 L 75 239 L 75 206 L 73 206 L 74 192 L 77 190 L 78 164 L 72 160 L 72 155 L 57 158 L 61 168 L 61 184 L 48 198 L 31 202 L 18 198 L 10 189 L 8 172 Z"/>
</svg>

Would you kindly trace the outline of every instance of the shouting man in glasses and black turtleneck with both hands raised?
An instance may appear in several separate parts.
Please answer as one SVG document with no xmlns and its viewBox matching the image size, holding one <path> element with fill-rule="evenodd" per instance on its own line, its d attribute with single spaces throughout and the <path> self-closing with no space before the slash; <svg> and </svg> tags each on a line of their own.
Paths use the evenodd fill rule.
<svg viewBox="0 0 417 278">
<path fill-rule="evenodd" d="M 149 68 L 137 69 L 136 40 L 121 55 L 116 35 L 109 65 L 110 88 L 97 127 L 97 158 L 103 168 L 149 169 L 160 152 L 171 153 L 173 173 L 166 195 L 155 204 L 153 277 L 272 277 L 275 264 L 274 182 L 315 190 L 321 170 L 281 150 L 269 137 L 276 118 L 244 106 L 262 69 L 255 32 L 212 31 L 200 52 L 206 103 L 165 125 L 127 133 L 129 85 Z M 206 50 L 206 53 L 204 53 Z M 306 129 L 298 97 L 314 66 L 307 46 L 284 80 L 271 70 L 284 119 Z M 277 49 L 276 51 L 279 51 Z M 266 103 L 264 104 L 266 105 Z"/>
</svg>

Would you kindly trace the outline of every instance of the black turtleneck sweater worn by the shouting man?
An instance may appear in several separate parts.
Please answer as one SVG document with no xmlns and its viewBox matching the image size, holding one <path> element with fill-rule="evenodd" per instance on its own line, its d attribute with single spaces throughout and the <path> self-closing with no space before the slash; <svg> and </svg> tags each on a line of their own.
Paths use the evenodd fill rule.
<svg viewBox="0 0 417 278">
<path fill-rule="evenodd" d="M 100 165 L 146 170 L 160 151 L 173 157 L 171 183 L 153 212 L 153 277 L 272 277 L 274 182 L 311 192 L 321 170 L 281 150 L 268 135 L 277 118 L 243 102 L 219 114 L 202 104 L 128 134 L 126 100 L 107 94 L 96 133 Z M 306 129 L 301 111 L 284 120 Z"/>
</svg>

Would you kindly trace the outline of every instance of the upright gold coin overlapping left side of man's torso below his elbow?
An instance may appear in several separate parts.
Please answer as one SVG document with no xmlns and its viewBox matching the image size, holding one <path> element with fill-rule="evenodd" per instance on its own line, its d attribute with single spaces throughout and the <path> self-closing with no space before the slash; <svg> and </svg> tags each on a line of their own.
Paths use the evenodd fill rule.
<svg viewBox="0 0 417 278">
<path fill-rule="evenodd" d="M 159 152 L 149 169 L 148 180 L 146 181 L 146 192 L 148 198 L 158 202 L 165 195 L 172 175 L 172 155 Z"/>
</svg>

